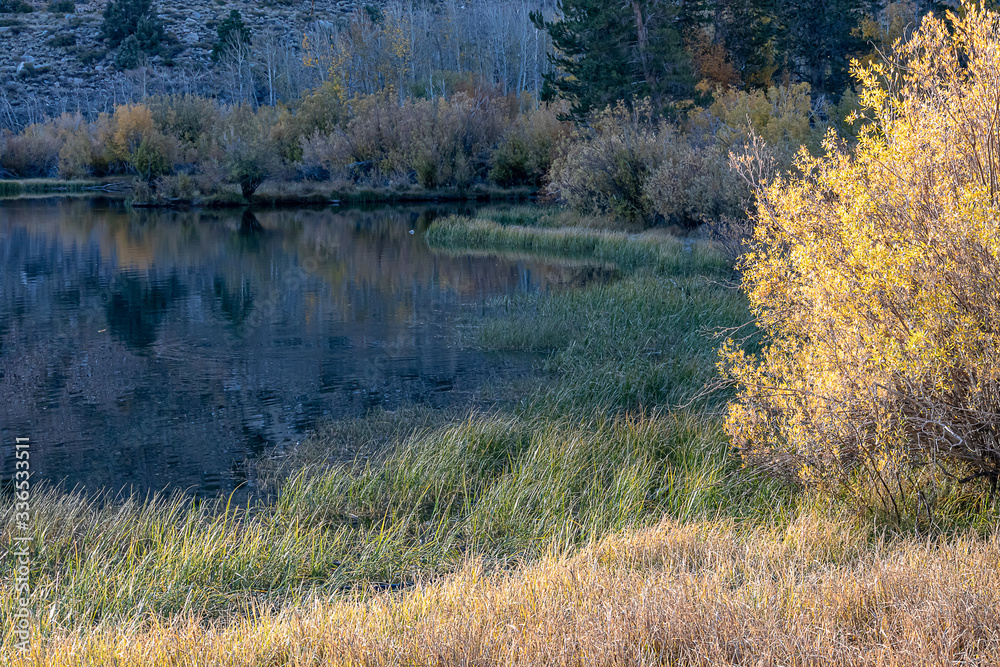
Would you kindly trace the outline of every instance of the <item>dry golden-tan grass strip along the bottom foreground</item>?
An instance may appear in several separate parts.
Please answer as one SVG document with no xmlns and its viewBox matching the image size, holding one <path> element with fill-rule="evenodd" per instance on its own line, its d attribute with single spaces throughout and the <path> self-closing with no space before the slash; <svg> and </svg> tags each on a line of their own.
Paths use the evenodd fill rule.
<svg viewBox="0 0 1000 667">
<path fill-rule="evenodd" d="M 998 584 L 997 537 L 882 539 L 815 511 L 664 522 L 403 592 L 35 637 L 14 664 L 988 665 Z"/>
</svg>

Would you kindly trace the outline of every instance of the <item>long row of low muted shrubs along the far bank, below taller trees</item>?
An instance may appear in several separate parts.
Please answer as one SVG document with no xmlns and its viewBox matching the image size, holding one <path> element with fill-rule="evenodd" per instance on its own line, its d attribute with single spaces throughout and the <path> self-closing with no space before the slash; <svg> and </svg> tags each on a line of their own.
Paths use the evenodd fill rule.
<svg viewBox="0 0 1000 667">
<path fill-rule="evenodd" d="M 554 105 L 524 111 L 525 100 L 467 88 L 400 103 L 389 89 L 348 100 L 328 81 L 294 108 L 257 109 L 157 95 L 90 121 L 75 117 L 8 134 L 0 165 L 14 177 L 135 174 L 150 184 L 184 173 L 206 194 L 221 179 L 247 185 L 251 196 L 253 183 L 278 169 L 284 178 L 328 180 L 331 188 L 547 184 L 577 212 L 631 226 L 693 226 L 743 217 L 750 191 L 730 171 L 730 151 L 763 137 L 784 168 L 799 142 L 811 146 L 817 133 L 805 86 L 720 93 L 710 109 L 675 124 L 648 104 L 608 108 L 576 133 Z M 120 126 L 134 125 L 139 108 L 146 110 L 141 130 L 134 128 L 141 136 L 122 148 Z M 244 122 L 259 115 L 266 123 Z M 227 118 L 244 120 L 235 127 Z"/>
</svg>

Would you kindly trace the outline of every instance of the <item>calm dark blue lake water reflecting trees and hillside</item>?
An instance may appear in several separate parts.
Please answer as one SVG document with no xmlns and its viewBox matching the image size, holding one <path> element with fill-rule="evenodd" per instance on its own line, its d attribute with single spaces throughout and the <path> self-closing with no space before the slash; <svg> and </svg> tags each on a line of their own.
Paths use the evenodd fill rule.
<svg viewBox="0 0 1000 667">
<path fill-rule="evenodd" d="M 484 299 L 587 271 L 432 252 L 442 211 L 0 202 L 0 447 L 87 490 L 225 493 L 317 420 L 475 402 L 525 361 L 458 344 Z"/>
</svg>

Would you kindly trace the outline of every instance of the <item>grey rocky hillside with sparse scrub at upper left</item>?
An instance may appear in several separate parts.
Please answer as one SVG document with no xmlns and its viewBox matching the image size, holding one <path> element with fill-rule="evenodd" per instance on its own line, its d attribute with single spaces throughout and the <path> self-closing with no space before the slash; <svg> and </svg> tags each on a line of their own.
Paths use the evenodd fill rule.
<svg viewBox="0 0 1000 667">
<path fill-rule="evenodd" d="M 147 67 L 129 72 L 115 67 L 114 51 L 101 41 L 106 1 L 26 0 L 33 11 L 0 13 L 0 127 L 63 111 L 108 110 L 147 87 L 211 90 L 216 28 L 232 9 L 255 32 L 271 27 L 295 49 L 310 25 L 329 25 L 356 6 L 354 0 L 160 0 L 168 45 Z"/>
</svg>

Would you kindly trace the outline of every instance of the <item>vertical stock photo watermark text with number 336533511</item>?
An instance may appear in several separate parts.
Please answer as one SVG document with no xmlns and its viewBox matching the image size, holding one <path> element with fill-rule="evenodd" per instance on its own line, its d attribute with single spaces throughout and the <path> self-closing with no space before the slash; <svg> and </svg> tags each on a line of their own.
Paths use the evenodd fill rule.
<svg viewBox="0 0 1000 667">
<path fill-rule="evenodd" d="M 11 557 L 14 559 L 15 610 L 11 630 L 17 638 L 15 648 L 27 653 L 31 636 L 31 440 L 15 438 L 14 443 L 14 531 L 11 536 Z"/>
</svg>

